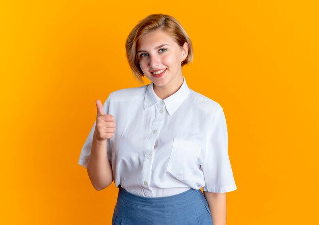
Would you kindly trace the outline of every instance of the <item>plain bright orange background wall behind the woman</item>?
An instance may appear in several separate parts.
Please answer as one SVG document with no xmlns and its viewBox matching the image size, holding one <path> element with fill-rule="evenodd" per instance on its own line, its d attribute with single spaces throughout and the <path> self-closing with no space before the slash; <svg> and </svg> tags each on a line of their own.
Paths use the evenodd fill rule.
<svg viewBox="0 0 319 225">
<path fill-rule="evenodd" d="M 181 22 L 189 87 L 224 108 L 227 224 L 318 222 L 317 1 L 45 2 L 0 3 L 2 224 L 111 224 L 117 188 L 77 161 L 95 99 L 140 86 L 125 40 L 152 13 Z"/>
</svg>

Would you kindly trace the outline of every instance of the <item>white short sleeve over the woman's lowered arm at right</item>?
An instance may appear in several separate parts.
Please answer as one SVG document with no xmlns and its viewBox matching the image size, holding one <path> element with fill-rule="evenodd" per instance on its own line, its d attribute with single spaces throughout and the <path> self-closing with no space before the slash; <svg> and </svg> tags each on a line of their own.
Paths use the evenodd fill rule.
<svg viewBox="0 0 319 225">
<path fill-rule="evenodd" d="M 237 187 L 228 156 L 228 133 L 223 109 L 220 108 L 216 115 L 208 128 L 205 158 L 201 165 L 206 183 L 203 190 L 223 193 Z"/>
</svg>

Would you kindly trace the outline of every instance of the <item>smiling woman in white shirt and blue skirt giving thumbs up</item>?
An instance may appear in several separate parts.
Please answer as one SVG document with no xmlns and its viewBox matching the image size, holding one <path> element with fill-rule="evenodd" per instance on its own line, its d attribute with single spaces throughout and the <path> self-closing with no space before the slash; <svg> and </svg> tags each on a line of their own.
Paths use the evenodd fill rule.
<svg viewBox="0 0 319 225">
<path fill-rule="evenodd" d="M 226 224 L 226 192 L 237 187 L 225 116 L 182 75 L 193 60 L 187 33 L 152 14 L 130 32 L 126 53 L 135 77 L 151 82 L 96 101 L 78 161 L 97 190 L 119 187 L 112 224 Z"/>
</svg>

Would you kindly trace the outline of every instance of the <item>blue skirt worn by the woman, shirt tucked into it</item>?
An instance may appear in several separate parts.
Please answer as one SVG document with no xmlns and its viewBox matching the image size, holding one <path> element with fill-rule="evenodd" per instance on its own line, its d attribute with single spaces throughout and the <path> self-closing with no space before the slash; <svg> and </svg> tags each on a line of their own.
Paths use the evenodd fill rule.
<svg viewBox="0 0 319 225">
<path fill-rule="evenodd" d="M 208 203 L 201 190 L 147 198 L 119 186 L 112 225 L 212 225 Z"/>
</svg>

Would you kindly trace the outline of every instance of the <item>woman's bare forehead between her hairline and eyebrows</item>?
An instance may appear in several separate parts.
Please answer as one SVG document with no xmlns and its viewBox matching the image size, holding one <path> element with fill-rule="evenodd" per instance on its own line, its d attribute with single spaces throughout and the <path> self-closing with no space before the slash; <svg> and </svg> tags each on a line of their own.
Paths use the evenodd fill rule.
<svg viewBox="0 0 319 225">
<path fill-rule="evenodd" d="M 137 50 L 152 48 L 161 44 L 177 45 L 177 43 L 164 31 L 152 31 L 143 35 L 137 43 Z"/>
</svg>

